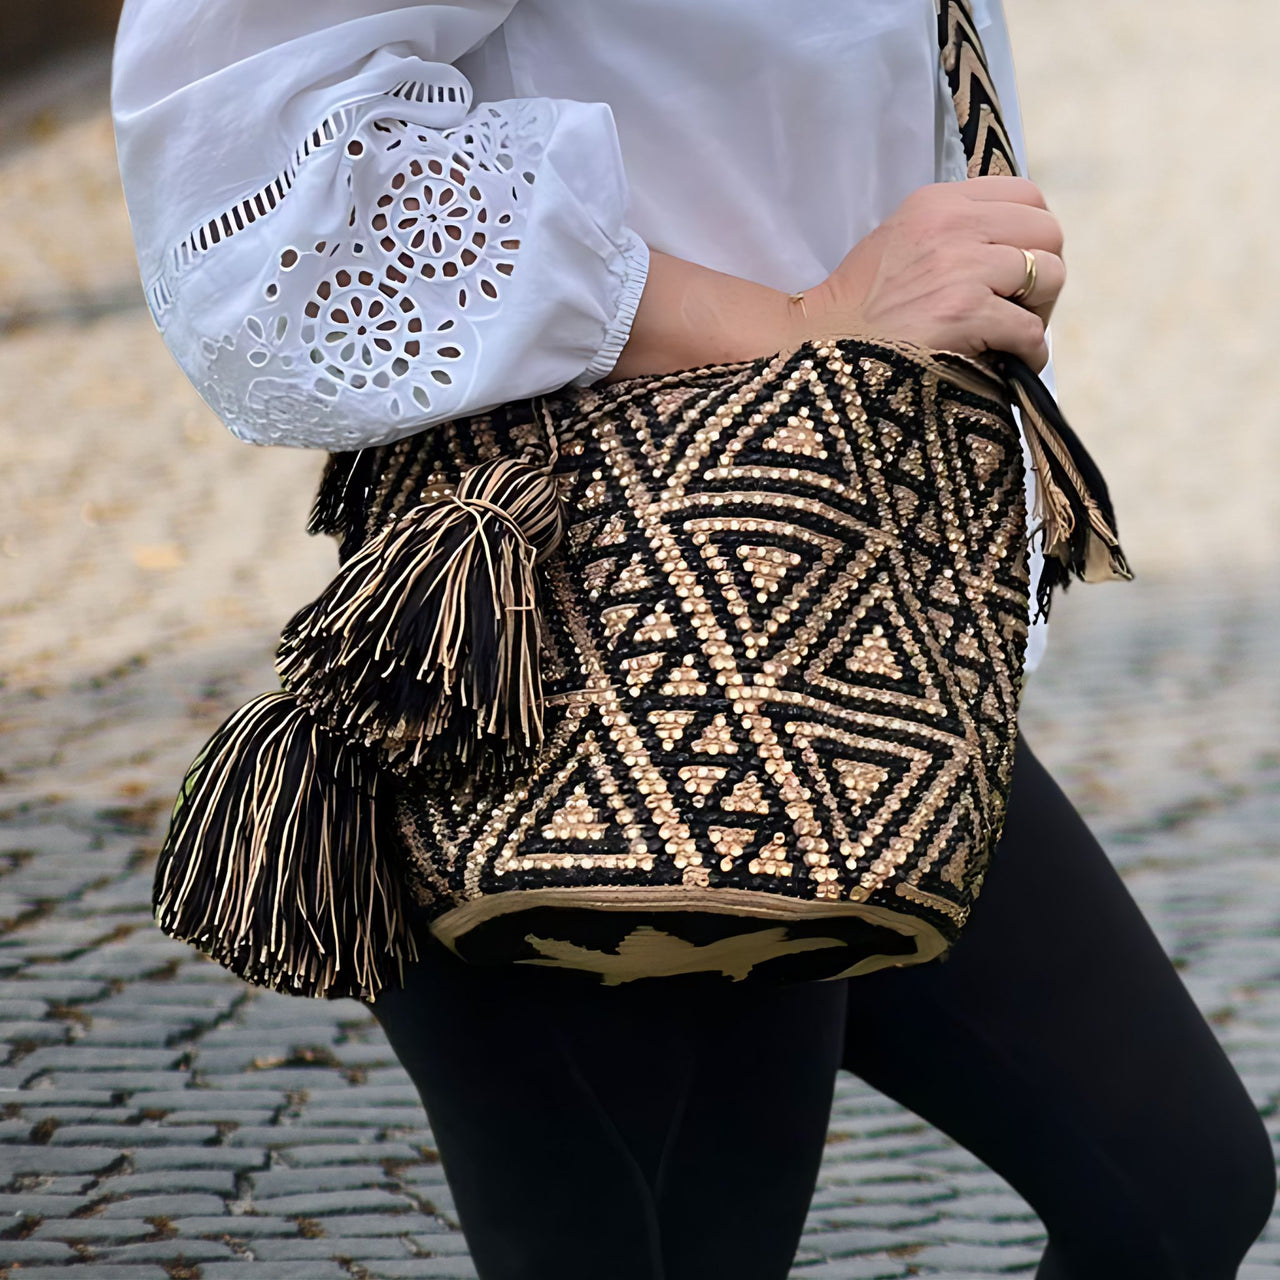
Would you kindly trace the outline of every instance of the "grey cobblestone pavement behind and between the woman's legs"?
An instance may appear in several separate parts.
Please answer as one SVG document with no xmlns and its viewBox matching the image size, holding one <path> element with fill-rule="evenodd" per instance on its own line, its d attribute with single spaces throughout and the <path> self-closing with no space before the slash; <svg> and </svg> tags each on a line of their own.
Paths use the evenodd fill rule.
<svg viewBox="0 0 1280 1280">
<path fill-rule="evenodd" d="M 1025 716 L 1274 1129 L 1277 586 L 1071 593 Z M 266 658 L 264 644 L 198 666 L 232 703 Z M 69 756 L 186 677 L 177 660 L 138 666 L 52 705 L 17 690 L 6 719 L 60 721 Z M 189 749 L 198 733 L 179 728 Z M 61 794 L 55 763 L 14 760 L 0 815 L 0 1267 L 471 1276 L 430 1132 L 364 1009 L 252 992 L 164 938 L 146 905 L 164 805 L 127 785 L 106 805 Z M 796 1277 L 1029 1272 L 1041 1243 L 998 1176 L 842 1078 Z M 1280 1221 L 1245 1276 L 1280 1276 Z"/>
</svg>

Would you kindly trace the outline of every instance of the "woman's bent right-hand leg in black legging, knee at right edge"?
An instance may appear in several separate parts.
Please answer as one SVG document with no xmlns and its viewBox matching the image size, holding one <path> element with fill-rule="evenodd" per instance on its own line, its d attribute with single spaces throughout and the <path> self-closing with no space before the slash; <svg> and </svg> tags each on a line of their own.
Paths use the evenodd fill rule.
<svg viewBox="0 0 1280 1280">
<path fill-rule="evenodd" d="M 1275 1196 L 1266 1132 L 1024 741 L 1004 835 L 950 957 L 847 991 L 842 1065 L 1027 1198 L 1050 1233 L 1046 1280 L 1235 1274 Z"/>
</svg>

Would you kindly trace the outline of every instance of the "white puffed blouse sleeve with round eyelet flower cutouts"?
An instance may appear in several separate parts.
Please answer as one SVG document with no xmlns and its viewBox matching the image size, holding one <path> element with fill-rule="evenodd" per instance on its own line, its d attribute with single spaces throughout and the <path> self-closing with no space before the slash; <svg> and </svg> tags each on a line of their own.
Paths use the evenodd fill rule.
<svg viewBox="0 0 1280 1280">
<path fill-rule="evenodd" d="M 127 0 L 113 110 L 169 351 L 257 444 L 352 449 L 614 365 L 648 269 L 603 102 L 472 101 L 515 0 Z"/>
</svg>

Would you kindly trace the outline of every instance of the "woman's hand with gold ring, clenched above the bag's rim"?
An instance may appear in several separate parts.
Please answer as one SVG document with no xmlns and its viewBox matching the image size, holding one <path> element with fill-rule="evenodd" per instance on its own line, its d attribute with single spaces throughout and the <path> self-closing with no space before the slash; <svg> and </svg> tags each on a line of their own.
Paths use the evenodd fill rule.
<svg viewBox="0 0 1280 1280">
<path fill-rule="evenodd" d="M 1036 287 L 1010 302 L 1036 255 Z M 1048 362 L 1044 326 L 1066 279 L 1062 228 L 1027 178 L 941 182 L 913 192 L 805 292 L 803 338 L 902 338 L 977 356 Z"/>
</svg>

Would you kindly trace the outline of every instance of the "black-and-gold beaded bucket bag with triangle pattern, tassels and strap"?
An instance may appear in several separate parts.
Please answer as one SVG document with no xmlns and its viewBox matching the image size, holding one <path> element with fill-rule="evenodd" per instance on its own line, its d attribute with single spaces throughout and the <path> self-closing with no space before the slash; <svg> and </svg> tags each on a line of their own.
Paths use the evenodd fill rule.
<svg viewBox="0 0 1280 1280">
<path fill-rule="evenodd" d="M 969 174 L 1014 159 L 970 14 Z M 334 454 L 342 568 L 206 744 L 161 927 L 374 998 L 422 927 L 605 983 L 820 979 L 955 941 L 1011 782 L 1029 613 L 1130 577 L 1039 379 L 854 337 L 566 389 Z"/>
</svg>

